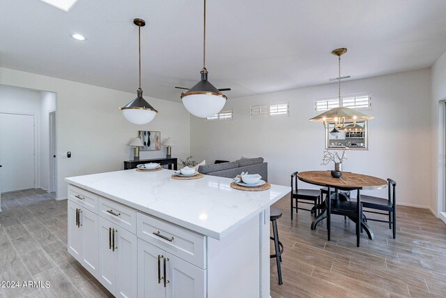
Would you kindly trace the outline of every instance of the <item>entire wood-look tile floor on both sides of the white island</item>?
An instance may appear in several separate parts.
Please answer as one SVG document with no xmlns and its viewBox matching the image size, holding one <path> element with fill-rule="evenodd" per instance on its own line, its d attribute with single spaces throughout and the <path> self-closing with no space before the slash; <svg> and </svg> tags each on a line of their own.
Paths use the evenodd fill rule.
<svg viewBox="0 0 446 298">
<path fill-rule="evenodd" d="M 291 221 L 289 198 L 275 204 L 283 285 L 271 259 L 271 297 L 446 297 L 446 225 L 426 209 L 399 207 L 397 239 L 385 223 L 355 246 L 355 225 L 334 216 L 316 231 L 308 211 Z M 49 281 L 50 288 L 0 288 L 5 297 L 112 297 L 66 248 L 67 201 L 40 190 L 1 195 L 0 281 Z M 272 244 L 272 241 L 271 241 Z M 249 297 L 250 298 L 250 297 Z"/>
</svg>

